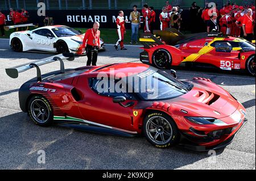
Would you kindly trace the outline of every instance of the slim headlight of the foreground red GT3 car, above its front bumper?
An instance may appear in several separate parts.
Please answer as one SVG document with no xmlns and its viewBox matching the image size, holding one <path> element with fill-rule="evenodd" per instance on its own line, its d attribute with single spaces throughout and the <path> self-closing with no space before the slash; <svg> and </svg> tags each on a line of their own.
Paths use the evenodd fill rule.
<svg viewBox="0 0 256 181">
<path fill-rule="evenodd" d="M 215 125 L 226 125 L 223 121 L 214 117 L 185 117 L 192 123 L 196 124 L 215 124 Z"/>
</svg>

